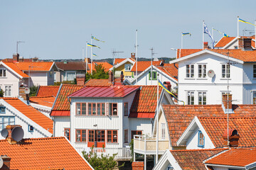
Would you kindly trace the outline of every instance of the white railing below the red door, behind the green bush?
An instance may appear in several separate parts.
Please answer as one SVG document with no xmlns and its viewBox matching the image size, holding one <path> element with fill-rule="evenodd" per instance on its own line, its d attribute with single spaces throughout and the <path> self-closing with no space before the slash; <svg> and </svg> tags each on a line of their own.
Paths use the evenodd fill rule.
<svg viewBox="0 0 256 170">
<path fill-rule="evenodd" d="M 89 148 L 83 148 L 83 147 L 76 147 L 77 151 L 81 153 L 82 151 L 89 151 Z M 114 159 L 132 159 L 131 150 L 129 147 L 105 147 L 104 149 L 102 147 L 94 147 L 93 151 L 97 154 L 98 157 L 100 157 L 102 154 L 104 156 L 113 154 L 117 154 Z"/>
</svg>

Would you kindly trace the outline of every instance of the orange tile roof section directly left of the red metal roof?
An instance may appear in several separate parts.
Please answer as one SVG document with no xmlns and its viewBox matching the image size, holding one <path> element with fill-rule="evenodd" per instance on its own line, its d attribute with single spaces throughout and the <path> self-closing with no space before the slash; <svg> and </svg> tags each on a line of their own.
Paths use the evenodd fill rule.
<svg viewBox="0 0 256 170">
<path fill-rule="evenodd" d="M 75 91 L 78 91 L 83 87 L 84 86 L 82 85 L 76 84 L 63 84 L 60 89 L 60 94 L 58 94 L 55 105 L 53 106 L 53 111 L 50 113 L 50 115 L 54 116 L 54 113 L 58 111 L 67 111 L 70 115 L 70 103 L 68 102 L 68 95 L 73 94 Z"/>
</svg>

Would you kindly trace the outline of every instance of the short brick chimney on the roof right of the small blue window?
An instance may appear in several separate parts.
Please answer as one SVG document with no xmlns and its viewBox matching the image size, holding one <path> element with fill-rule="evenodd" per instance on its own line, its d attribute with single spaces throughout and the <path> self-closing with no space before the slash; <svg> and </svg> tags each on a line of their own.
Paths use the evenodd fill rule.
<svg viewBox="0 0 256 170">
<path fill-rule="evenodd" d="M 238 147 L 239 138 L 238 130 L 226 129 L 223 133 L 223 147 Z"/>
</svg>

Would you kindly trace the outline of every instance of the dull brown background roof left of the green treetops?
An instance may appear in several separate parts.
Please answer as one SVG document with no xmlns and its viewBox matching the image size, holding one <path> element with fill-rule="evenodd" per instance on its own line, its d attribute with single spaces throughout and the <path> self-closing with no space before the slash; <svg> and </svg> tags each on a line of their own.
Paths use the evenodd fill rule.
<svg viewBox="0 0 256 170">
<path fill-rule="evenodd" d="M 84 70 L 86 69 L 86 62 L 55 62 L 57 67 L 62 70 Z M 87 70 L 89 67 L 87 67 Z"/>
</svg>

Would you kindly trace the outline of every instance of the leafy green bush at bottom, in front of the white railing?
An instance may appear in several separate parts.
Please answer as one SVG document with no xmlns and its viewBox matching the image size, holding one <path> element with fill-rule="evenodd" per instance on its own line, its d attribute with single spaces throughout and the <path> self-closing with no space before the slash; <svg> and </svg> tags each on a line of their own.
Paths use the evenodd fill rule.
<svg viewBox="0 0 256 170">
<path fill-rule="evenodd" d="M 104 147 L 102 147 L 102 150 L 104 150 Z M 117 162 L 114 161 L 114 157 L 117 154 L 113 154 L 113 156 L 101 154 L 98 157 L 97 153 L 93 152 L 93 147 L 89 153 L 83 151 L 82 155 L 95 170 L 112 170 L 124 166 L 124 164 L 118 166 Z"/>
</svg>

